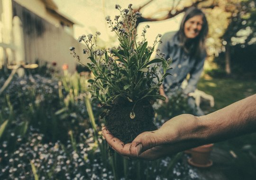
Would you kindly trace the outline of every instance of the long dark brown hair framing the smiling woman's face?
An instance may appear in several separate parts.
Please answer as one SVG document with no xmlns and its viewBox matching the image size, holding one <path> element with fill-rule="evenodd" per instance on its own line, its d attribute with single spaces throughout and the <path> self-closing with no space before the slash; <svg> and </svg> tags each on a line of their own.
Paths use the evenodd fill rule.
<svg viewBox="0 0 256 180">
<path fill-rule="evenodd" d="M 199 35 L 191 41 L 185 36 L 184 25 L 188 19 L 198 15 L 202 16 L 202 28 Z M 201 11 L 201 9 L 198 9 L 196 7 L 191 7 L 187 9 L 182 19 L 180 30 L 176 34 L 176 36 L 178 36 L 180 45 L 183 47 L 184 51 L 197 58 L 201 58 L 202 56 L 204 56 L 206 54 L 205 39 L 207 34 L 208 22 L 205 14 Z"/>
</svg>

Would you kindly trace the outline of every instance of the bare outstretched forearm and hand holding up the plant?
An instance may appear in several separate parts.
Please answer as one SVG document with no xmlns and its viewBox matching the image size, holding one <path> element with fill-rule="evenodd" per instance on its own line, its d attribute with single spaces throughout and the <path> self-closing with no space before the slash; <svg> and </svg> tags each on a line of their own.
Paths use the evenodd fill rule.
<svg viewBox="0 0 256 180">
<path fill-rule="evenodd" d="M 256 132 L 256 94 L 205 116 L 183 114 L 174 117 L 155 131 L 141 133 L 129 144 L 123 144 L 107 129 L 102 132 L 118 153 L 154 160 L 202 144 Z"/>
</svg>

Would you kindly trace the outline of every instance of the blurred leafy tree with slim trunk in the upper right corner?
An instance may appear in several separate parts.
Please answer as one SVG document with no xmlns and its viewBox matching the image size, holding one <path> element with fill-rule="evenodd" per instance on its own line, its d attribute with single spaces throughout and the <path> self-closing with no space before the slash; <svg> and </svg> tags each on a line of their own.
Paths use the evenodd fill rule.
<svg viewBox="0 0 256 180">
<path fill-rule="evenodd" d="M 230 54 L 234 45 L 241 47 L 256 44 L 256 0 L 230 1 L 226 11 L 230 12 L 229 26 L 222 36 L 225 46 L 225 70 L 231 74 Z"/>
</svg>

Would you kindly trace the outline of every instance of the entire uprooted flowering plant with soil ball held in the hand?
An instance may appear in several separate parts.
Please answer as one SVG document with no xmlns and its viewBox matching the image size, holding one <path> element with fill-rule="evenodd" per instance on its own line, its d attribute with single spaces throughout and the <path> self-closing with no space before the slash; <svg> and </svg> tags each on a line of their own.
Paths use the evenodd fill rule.
<svg viewBox="0 0 256 180">
<path fill-rule="evenodd" d="M 139 12 L 131 8 L 116 9 L 120 15 L 111 20 L 106 17 L 111 31 L 118 36 L 119 46 L 108 50 L 97 49 L 96 36 L 91 34 L 80 36 L 79 41 L 84 42 L 84 53 L 89 54 L 91 63 L 88 67 L 94 75 L 89 80 L 91 98 L 98 100 L 102 108 L 105 108 L 103 117 L 105 126 L 112 135 L 124 143 L 131 142 L 138 134 L 156 129 L 154 125 L 154 110 L 152 104 L 156 99 L 165 99 L 158 94 L 171 60 L 165 60 L 162 56 L 150 60 L 155 45 L 160 42 L 161 35 L 155 38 L 154 44 L 147 46 L 145 33 L 142 32 L 142 40 L 137 41 L 136 21 L 141 17 Z M 74 48 L 70 49 L 76 59 L 81 63 Z M 158 77 L 159 66 L 163 67 L 161 78 Z"/>
</svg>

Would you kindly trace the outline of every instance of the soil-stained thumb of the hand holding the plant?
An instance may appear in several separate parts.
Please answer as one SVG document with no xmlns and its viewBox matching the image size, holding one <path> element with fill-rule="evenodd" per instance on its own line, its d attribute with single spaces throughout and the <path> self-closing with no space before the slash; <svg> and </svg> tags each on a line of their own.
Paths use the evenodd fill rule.
<svg viewBox="0 0 256 180">
<path fill-rule="evenodd" d="M 130 144 L 129 152 L 131 156 L 138 157 L 144 151 L 157 146 L 160 143 L 157 137 L 157 130 L 146 131 L 138 135 Z"/>
</svg>

